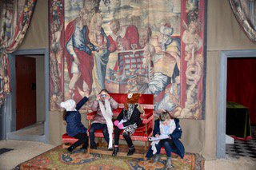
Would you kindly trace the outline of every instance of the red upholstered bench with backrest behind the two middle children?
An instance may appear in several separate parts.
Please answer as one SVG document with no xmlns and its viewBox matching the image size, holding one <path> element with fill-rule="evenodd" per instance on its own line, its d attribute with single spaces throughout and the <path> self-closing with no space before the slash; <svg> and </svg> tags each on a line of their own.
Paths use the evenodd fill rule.
<svg viewBox="0 0 256 170">
<path fill-rule="evenodd" d="M 118 114 L 121 113 L 122 109 L 124 108 L 124 103 L 126 102 L 127 94 L 110 93 L 110 96 L 113 97 L 113 99 L 117 101 L 119 104 L 118 109 L 113 110 L 113 116 L 115 118 L 115 117 L 118 117 Z M 149 145 L 148 137 L 152 136 L 152 133 L 153 133 L 154 95 L 142 94 L 142 96 L 138 100 L 138 103 L 144 109 L 145 115 L 144 116 L 141 115 L 142 125 L 140 125 L 140 127 L 136 129 L 134 134 L 131 136 L 131 139 L 145 142 L 144 149 L 146 152 Z M 86 119 L 89 122 L 89 128 L 90 128 L 90 123 L 93 120 L 95 114 L 96 112 L 88 113 L 86 116 Z M 102 130 L 96 130 L 94 134 L 95 134 L 95 137 L 98 137 L 100 139 L 99 142 L 101 143 L 101 138 L 103 138 Z M 123 139 L 122 133 L 120 134 L 121 134 L 120 139 Z"/>
</svg>

